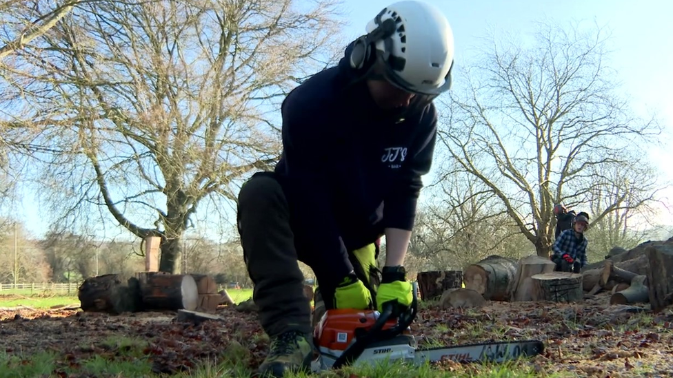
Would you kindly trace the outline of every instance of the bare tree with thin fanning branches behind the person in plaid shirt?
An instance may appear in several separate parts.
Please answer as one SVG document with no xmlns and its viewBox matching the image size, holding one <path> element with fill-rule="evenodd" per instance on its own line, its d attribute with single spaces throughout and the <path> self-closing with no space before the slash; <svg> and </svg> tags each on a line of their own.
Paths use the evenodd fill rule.
<svg viewBox="0 0 673 378">
<path fill-rule="evenodd" d="M 637 174 L 642 166 L 626 163 L 645 155 L 654 143 L 649 137 L 661 132 L 614 93 L 604 34 L 540 25 L 535 43 L 494 39 L 456 79 L 465 90 L 445 103 L 441 144 L 457 168 L 443 176 L 483 182 L 541 256 L 553 242 L 554 204 L 574 206 L 609 191 L 592 180 L 596 172 L 619 167 L 623 176 Z M 652 186 L 641 184 L 633 180 L 629 190 L 647 200 L 615 199 L 594 221 L 651 200 Z"/>
</svg>

